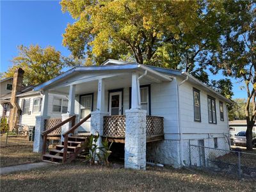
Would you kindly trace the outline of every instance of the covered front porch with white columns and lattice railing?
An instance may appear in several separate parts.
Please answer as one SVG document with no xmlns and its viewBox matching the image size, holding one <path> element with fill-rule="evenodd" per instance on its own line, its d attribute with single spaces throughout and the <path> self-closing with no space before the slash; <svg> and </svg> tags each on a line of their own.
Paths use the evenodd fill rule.
<svg viewBox="0 0 256 192">
<path fill-rule="evenodd" d="M 67 113 L 62 115 L 61 121 L 76 115 L 76 123 L 62 125 L 61 134 L 91 115 L 76 127 L 74 133 L 99 132 L 101 138 L 125 143 L 125 167 L 145 169 L 146 143 L 164 140 L 164 118 L 152 115 L 150 88 L 152 84 L 157 86 L 172 79 L 147 67 L 136 70 L 124 67 L 108 70 L 108 67 L 90 71 L 86 67 L 80 68 L 74 76 L 64 76 L 62 81 L 45 86 L 42 89 L 42 115 L 38 117 L 37 125 L 42 132 L 45 131 L 45 121 L 49 121 L 49 116 L 44 116 L 48 109 L 47 95 L 51 92 L 67 95 Z M 54 101 L 52 103 L 54 105 Z M 61 140 L 64 140 L 63 136 Z M 101 140 L 97 144 L 101 145 Z M 34 151 L 40 151 L 41 146 L 39 141 L 34 145 Z"/>
</svg>

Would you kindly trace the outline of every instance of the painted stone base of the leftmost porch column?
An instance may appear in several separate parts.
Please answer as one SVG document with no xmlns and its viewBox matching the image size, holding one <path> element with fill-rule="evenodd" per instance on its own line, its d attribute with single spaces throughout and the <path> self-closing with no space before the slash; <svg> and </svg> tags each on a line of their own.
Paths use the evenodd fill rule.
<svg viewBox="0 0 256 192">
<path fill-rule="evenodd" d="M 44 120 L 49 118 L 50 116 L 36 116 L 35 140 L 33 143 L 33 152 L 42 152 L 43 137 L 41 133 L 44 131 Z"/>
</svg>

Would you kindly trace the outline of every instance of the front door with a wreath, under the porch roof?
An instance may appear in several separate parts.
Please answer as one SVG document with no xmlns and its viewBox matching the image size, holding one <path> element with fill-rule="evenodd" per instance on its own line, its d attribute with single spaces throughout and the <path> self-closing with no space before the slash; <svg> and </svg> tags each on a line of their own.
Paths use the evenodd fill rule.
<svg viewBox="0 0 256 192">
<path fill-rule="evenodd" d="M 109 93 L 110 115 L 122 115 L 122 92 Z"/>
</svg>

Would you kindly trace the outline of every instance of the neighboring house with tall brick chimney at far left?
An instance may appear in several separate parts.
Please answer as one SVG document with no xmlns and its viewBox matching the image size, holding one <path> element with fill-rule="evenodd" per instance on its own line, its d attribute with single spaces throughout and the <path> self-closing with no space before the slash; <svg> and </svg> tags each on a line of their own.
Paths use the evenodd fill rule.
<svg viewBox="0 0 256 192">
<path fill-rule="evenodd" d="M 17 69 L 13 77 L 0 81 L 0 117 L 8 118 L 9 130 L 17 129 L 19 125 L 24 127 L 35 126 L 36 116 L 40 116 L 42 94 L 33 91 L 34 86 L 24 86 L 24 70 Z M 60 102 L 61 100 L 61 102 Z M 59 102 L 60 106 L 53 108 L 53 102 Z M 61 114 L 66 113 L 67 95 L 56 93 L 49 94 L 48 116 L 51 118 L 61 118 Z M 61 111 L 59 110 L 61 108 Z"/>
</svg>

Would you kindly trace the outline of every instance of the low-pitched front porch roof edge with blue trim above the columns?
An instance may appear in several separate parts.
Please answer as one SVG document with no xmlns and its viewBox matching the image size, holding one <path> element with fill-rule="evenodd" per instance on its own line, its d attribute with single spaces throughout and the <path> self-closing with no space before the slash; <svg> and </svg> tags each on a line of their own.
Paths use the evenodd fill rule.
<svg viewBox="0 0 256 192">
<path fill-rule="evenodd" d="M 57 76 L 43 84 L 40 84 L 39 86 L 36 86 L 34 88 L 34 91 L 47 90 L 48 88 L 52 87 L 54 84 L 58 84 L 60 82 L 65 82 L 65 81 L 68 82 L 68 79 L 71 79 L 72 77 L 80 74 L 92 74 L 93 72 L 94 73 L 106 72 L 106 74 L 109 74 L 108 72 L 113 72 L 113 73 L 139 72 L 140 74 L 143 74 L 145 71 L 147 71 L 147 76 L 150 77 L 151 79 L 154 79 L 154 81 L 159 81 L 159 82 L 172 81 L 172 77 L 161 74 L 161 72 L 157 72 L 156 70 L 150 67 L 147 67 L 145 65 L 140 65 L 138 63 L 121 64 L 121 65 L 100 65 L 100 66 L 71 68 L 70 70 L 61 74 L 60 76 Z"/>
</svg>

